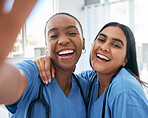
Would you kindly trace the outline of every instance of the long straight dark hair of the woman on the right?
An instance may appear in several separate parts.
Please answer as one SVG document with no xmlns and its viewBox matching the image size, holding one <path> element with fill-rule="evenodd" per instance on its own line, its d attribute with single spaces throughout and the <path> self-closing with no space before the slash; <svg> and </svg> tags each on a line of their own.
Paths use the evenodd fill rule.
<svg viewBox="0 0 148 118">
<path fill-rule="evenodd" d="M 137 55 L 136 55 L 136 43 L 135 43 L 135 37 L 133 35 L 133 32 L 130 30 L 130 28 L 126 25 L 120 24 L 118 22 L 110 22 L 107 23 L 97 34 L 95 40 L 98 38 L 100 32 L 109 26 L 116 26 L 123 30 L 126 39 L 127 39 L 127 48 L 126 48 L 126 58 L 128 60 L 127 64 L 125 65 L 125 68 L 127 71 L 129 71 L 133 76 L 137 78 L 137 80 L 140 82 L 141 85 L 144 85 L 148 88 L 148 83 L 142 81 L 139 76 L 139 70 L 138 70 L 138 64 L 137 64 Z M 90 55 L 90 65 L 91 64 L 91 55 Z"/>
</svg>

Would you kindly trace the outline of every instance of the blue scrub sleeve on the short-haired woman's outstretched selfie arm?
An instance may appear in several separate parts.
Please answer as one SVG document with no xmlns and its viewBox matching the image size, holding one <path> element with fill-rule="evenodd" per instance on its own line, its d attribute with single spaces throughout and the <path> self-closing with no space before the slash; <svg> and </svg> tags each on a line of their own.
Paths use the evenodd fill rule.
<svg viewBox="0 0 148 118">
<path fill-rule="evenodd" d="M 33 98 L 36 99 L 38 97 L 37 95 L 41 83 L 40 79 L 38 79 L 39 73 L 37 67 L 33 61 L 22 61 L 17 63 L 16 66 L 25 72 L 28 79 L 28 85 L 22 97 L 15 104 L 6 106 L 6 108 L 10 111 L 10 118 L 25 116 L 29 107 L 28 103 L 30 103 Z"/>
</svg>

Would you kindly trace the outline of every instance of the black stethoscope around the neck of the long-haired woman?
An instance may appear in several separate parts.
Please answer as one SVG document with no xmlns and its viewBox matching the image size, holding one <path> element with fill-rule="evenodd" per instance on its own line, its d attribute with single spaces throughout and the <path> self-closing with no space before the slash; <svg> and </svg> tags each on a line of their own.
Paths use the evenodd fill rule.
<svg viewBox="0 0 148 118">
<path fill-rule="evenodd" d="M 121 68 L 112 76 L 107 88 L 106 88 L 106 91 L 105 91 L 105 95 L 104 95 L 104 99 L 103 99 L 103 107 L 102 107 L 102 118 L 105 118 L 105 105 L 106 105 L 106 96 L 107 96 L 107 92 L 108 92 L 108 89 L 109 89 L 109 86 L 110 84 L 112 83 L 113 79 L 116 77 L 117 73 L 121 70 Z M 87 98 L 87 104 L 86 104 L 86 108 L 88 109 L 88 104 L 89 104 L 89 101 L 90 101 L 90 95 L 91 95 L 91 90 L 92 90 L 92 86 L 93 86 L 93 83 L 94 83 L 94 80 L 95 78 L 97 77 L 97 73 L 95 73 L 95 75 L 93 76 L 92 80 L 91 80 L 91 84 L 90 84 L 90 89 L 89 89 L 89 93 L 88 93 L 88 98 Z"/>
</svg>

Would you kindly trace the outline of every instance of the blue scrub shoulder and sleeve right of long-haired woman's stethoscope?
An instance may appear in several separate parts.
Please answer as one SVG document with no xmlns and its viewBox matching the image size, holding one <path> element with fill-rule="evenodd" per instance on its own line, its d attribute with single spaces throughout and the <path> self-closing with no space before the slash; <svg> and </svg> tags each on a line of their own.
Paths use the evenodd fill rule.
<svg viewBox="0 0 148 118">
<path fill-rule="evenodd" d="M 148 99 L 144 90 L 125 68 L 114 79 L 108 95 L 111 117 L 148 118 Z"/>
</svg>

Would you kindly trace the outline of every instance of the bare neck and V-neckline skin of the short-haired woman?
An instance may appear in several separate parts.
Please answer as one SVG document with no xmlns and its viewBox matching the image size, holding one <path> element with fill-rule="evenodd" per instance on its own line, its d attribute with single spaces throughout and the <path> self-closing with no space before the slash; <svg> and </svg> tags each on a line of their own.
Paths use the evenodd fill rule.
<svg viewBox="0 0 148 118">
<path fill-rule="evenodd" d="M 71 75 L 72 71 L 62 71 L 56 69 L 55 78 L 66 96 L 68 96 L 71 90 Z"/>
</svg>

